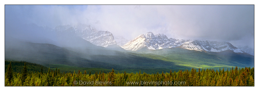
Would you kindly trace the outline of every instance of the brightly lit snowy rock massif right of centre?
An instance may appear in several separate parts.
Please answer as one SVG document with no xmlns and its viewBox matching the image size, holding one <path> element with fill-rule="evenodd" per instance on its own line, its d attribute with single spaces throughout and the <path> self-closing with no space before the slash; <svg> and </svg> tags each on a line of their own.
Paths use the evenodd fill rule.
<svg viewBox="0 0 259 91">
<path fill-rule="evenodd" d="M 178 40 L 167 38 L 164 34 L 154 35 L 152 32 L 146 34 L 141 34 L 132 41 L 129 41 L 122 46 L 125 50 L 140 50 L 142 48 L 148 48 L 152 50 L 162 49 L 162 48 L 174 48 L 181 47 L 189 50 L 197 51 L 210 51 L 210 52 L 220 52 L 224 50 L 232 50 L 236 53 L 244 53 L 243 50 L 236 48 L 231 43 L 228 42 L 217 42 L 217 41 L 207 41 L 207 40 Z"/>
</svg>

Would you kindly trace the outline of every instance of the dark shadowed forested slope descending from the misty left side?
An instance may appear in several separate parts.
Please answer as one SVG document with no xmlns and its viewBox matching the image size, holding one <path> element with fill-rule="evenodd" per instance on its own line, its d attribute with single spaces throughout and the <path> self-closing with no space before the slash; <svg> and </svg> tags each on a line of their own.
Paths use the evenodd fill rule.
<svg viewBox="0 0 259 91">
<path fill-rule="evenodd" d="M 129 70 L 130 72 L 139 72 L 139 70 L 160 72 L 175 69 L 175 67 L 181 69 L 188 68 L 186 66 L 175 65 L 173 62 L 146 58 L 136 53 L 120 52 L 111 49 L 84 48 L 75 52 L 73 48 L 68 50 L 52 44 L 28 42 L 18 43 L 19 45 L 13 44 L 16 43 L 5 41 L 5 59 L 24 60 L 44 66 L 63 64 L 83 68 L 114 68 L 115 70 Z M 58 65 L 56 66 L 58 67 Z"/>
</svg>

